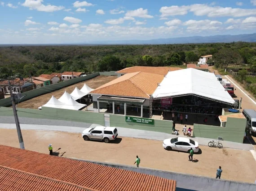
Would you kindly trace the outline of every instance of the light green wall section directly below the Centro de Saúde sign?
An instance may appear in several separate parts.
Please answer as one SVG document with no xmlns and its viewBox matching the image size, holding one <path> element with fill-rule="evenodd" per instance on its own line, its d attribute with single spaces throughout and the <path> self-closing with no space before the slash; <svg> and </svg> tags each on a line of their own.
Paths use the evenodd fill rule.
<svg viewBox="0 0 256 191">
<path fill-rule="evenodd" d="M 153 132 L 164 132 L 164 133 L 172 134 L 172 121 L 167 121 L 167 120 L 154 119 L 154 125 L 147 125 L 147 124 L 141 124 L 141 123 L 126 122 L 124 115 L 110 114 L 110 126 L 126 127 L 131 129 L 139 129 L 139 130 L 153 131 Z"/>
</svg>

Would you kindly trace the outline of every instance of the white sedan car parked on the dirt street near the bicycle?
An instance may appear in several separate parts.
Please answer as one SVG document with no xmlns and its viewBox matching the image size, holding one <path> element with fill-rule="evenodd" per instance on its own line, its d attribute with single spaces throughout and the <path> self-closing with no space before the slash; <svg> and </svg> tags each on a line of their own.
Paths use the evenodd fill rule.
<svg viewBox="0 0 256 191">
<path fill-rule="evenodd" d="M 198 142 L 186 137 L 176 137 L 163 140 L 163 148 L 168 151 L 177 150 L 185 152 L 189 152 L 190 148 L 192 148 L 194 150 L 194 153 L 199 152 Z"/>
</svg>

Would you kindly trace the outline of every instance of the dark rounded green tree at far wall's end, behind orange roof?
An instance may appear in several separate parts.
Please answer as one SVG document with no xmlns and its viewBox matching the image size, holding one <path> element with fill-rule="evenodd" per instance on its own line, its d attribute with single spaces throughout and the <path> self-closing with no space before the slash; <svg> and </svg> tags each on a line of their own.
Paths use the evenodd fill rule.
<svg viewBox="0 0 256 191">
<path fill-rule="evenodd" d="M 121 60 L 115 56 L 108 55 L 97 64 L 98 71 L 117 71 L 122 69 Z"/>
</svg>

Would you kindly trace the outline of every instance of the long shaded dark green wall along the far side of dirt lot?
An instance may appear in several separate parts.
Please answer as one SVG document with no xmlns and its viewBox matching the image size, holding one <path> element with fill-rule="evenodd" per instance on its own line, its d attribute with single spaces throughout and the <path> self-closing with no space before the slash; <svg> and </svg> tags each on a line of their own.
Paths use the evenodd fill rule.
<svg viewBox="0 0 256 191">
<path fill-rule="evenodd" d="M 67 81 L 59 82 L 57 84 L 47 85 L 47 86 L 44 86 L 41 88 L 37 88 L 37 89 L 33 89 L 31 91 L 24 92 L 24 93 L 22 93 L 22 95 L 26 94 L 26 96 L 22 98 L 21 102 L 24 102 L 31 98 L 35 98 L 35 97 L 43 95 L 45 93 L 50 93 L 50 92 L 62 89 L 64 87 L 79 83 L 81 81 L 86 81 L 86 80 L 92 79 L 99 75 L 100 75 L 99 72 L 96 72 L 93 74 L 88 74 L 87 76 L 76 77 L 76 78 L 73 78 L 73 79 L 70 79 Z M 102 75 L 104 75 L 104 72 L 102 72 Z M 18 100 L 16 100 L 16 103 L 17 102 L 18 102 Z M 0 106 L 3 106 L 3 107 L 11 106 L 11 98 L 1 99 Z"/>
</svg>

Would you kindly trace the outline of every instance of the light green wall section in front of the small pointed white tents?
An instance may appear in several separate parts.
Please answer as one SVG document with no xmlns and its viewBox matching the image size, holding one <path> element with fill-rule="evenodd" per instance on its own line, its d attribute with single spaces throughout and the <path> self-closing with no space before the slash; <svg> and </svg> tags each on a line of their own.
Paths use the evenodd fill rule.
<svg viewBox="0 0 256 191">
<path fill-rule="evenodd" d="M 17 112 L 18 117 L 55 119 L 104 125 L 103 113 L 79 110 L 64 110 L 49 107 L 42 107 L 42 110 L 17 108 Z M 13 116 L 13 108 L 0 107 L 0 116 Z"/>
</svg>

